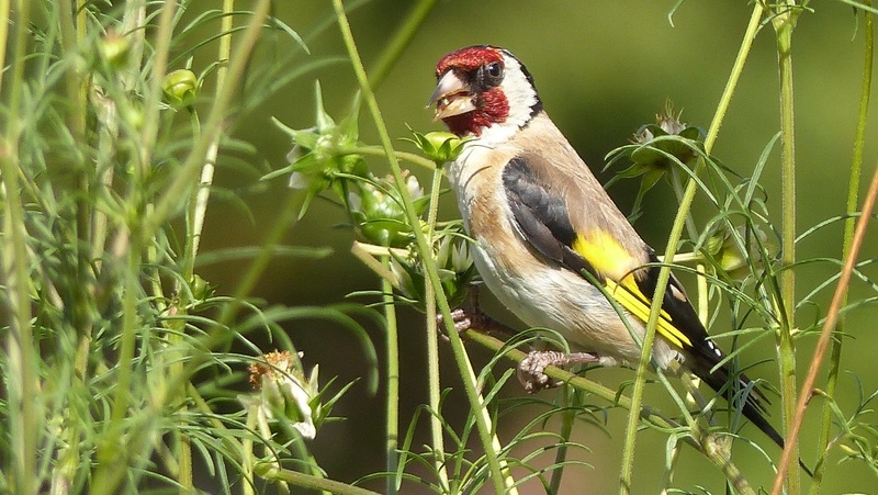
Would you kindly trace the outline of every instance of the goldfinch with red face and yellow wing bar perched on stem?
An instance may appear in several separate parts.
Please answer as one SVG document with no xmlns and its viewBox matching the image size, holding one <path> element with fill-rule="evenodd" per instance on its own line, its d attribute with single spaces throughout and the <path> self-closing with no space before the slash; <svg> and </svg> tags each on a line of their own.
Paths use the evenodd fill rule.
<svg viewBox="0 0 878 495">
<path fill-rule="evenodd" d="M 509 50 L 475 45 L 441 57 L 436 77 L 428 106 L 463 138 L 446 168 L 484 284 L 526 325 L 585 351 L 532 351 L 519 365 L 536 381 L 526 386 L 552 385 L 542 373 L 549 364 L 637 364 L 632 331 L 642 341 L 658 258 L 549 117 L 531 74 Z M 656 368 L 685 368 L 717 392 L 732 383 L 743 415 L 784 447 L 764 393 L 723 362 L 673 274 L 655 336 Z"/>
</svg>

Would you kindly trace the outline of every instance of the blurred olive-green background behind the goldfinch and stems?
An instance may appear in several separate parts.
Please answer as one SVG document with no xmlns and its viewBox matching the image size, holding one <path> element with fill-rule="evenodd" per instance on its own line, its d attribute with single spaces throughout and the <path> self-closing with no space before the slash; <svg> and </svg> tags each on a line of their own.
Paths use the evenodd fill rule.
<svg viewBox="0 0 878 495">
<path fill-rule="evenodd" d="M 743 1 L 684 2 L 674 14 L 672 26 L 668 13 L 675 3 L 667 0 L 439 1 L 378 91 L 378 101 L 391 135 L 407 136 L 406 125 L 421 132 L 441 128 L 440 124 L 431 121 L 431 112 L 425 108 L 435 83 L 434 65 L 444 53 L 471 44 L 506 47 L 527 65 L 536 78 L 547 111 L 595 172 L 604 167 L 605 155 L 627 144 L 640 125 L 652 123 L 668 99 L 678 111 L 683 110 L 684 122 L 707 128 L 739 49 L 752 5 Z M 382 53 L 391 34 L 412 7 L 413 3 L 404 1 L 374 0 L 350 13 L 353 34 L 367 67 Z M 802 14 L 793 34 L 799 232 L 844 213 L 863 70 L 863 30 L 852 8 L 829 1 L 813 2 L 811 7 L 814 12 Z M 331 5 L 314 0 L 275 2 L 273 14 L 304 34 L 331 14 Z M 288 52 L 296 49 L 293 42 L 281 35 L 267 36 L 260 47 L 260 57 L 269 63 L 289 63 Z M 296 63 L 346 54 L 335 24 L 319 36 L 308 40 L 308 46 L 311 55 L 296 57 Z M 216 53 L 212 45 L 204 49 L 205 60 L 199 60 L 196 56 L 196 66 L 206 64 Z M 294 68 L 290 67 L 291 70 Z M 259 160 L 263 160 L 267 167 L 277 169 L 285 166 L 285 155 L 291 147 L 288 137 L 270 122 L 272 116 L 294 128 L 313 125 L 315 77 L 323 85 L 327 111 L 334 116 L 342 116 L 356 89 L 347 63 L 333 65 L 314 77 L 305 77 L 284 87 L 256 111 L 248 113 L 235 128 L 238 138 L 256 145 Z M 750 175 L 759 155 L 779 130 L 777 79 L 774 32 L 770 26 L 765 26 L 753 47 L 714 148 L 717 157 L 744 176 Z M 870 115 L 874 120 L 875 111 Z M 376 144 L 369 119 L 362 117 L 360 122 L 361 139 Z M 877 158 L 874 126 L 867 136 L 869 144 L 864 170 L 868 179 Z M 398 142 L 398 149 L 413 150 L 410 145 L 403 142 Z M 774 221 L 779 221 L 778 162 L 779 153 L 775 149 L 762 179 L 768 192 L 768 206 L 775 214 Z M 386 170 L 386 165 L 380 160 L 370 161 L 370 166 L 376 173 Z M 216 201 L 207 214 L 203 252 L 221 247 L 258 245 L 264 229 L 272 225 L 278 215 L 279 198 L 294 193 L 285 187 L 285 180 L 275 180 L 266 189 L 255 192 L 248 187 L 257 178 L 240 173 L 235 167 L 224 164 L 223 158 L 219 167 L 218 185 L 237 192 L 247 191 L 243 192 L 241 198 L 252 217 L 235 202 L 223 201 L 222 195 L 215 196 Z M 426 170 L 415 169 L 413 172 L 421 178 L 421 183 L 427 182 Z M 598 173 L 601 182 L 609 177 L 610 172 Z M 610 191 L 623 211 L 630 210 L 637 185 L 633 181 L 626 182 Z M 645 214 L 635 226 L 661 251 L 676 211 L 666 183 L 660 183 L 650 193 L 644 211 Z M 441 217 L 452 218 L 457 215 L 453 199 L 446 196 Z M 331 246 L 335 254 L 319 261 L 275 260 L 254 295 L 268 303 L 320 305 L 344 302 L 346 294 L 352 291 L 376 290 L 375 277 L 349 255 L 353 237 L 349 229 L 340 227 L 345 220 L 344 212 L 336 205 L 316 201 L 307 215 L 290 229 L 285 241 Z M 836 224 L 809 237 L 800 245 L 799 257 L 840 256 L 841 233 L 841 224 Z M 878 255 L 877 244 L 871 234 L 864 258 Z M 223 265 L 206 267 L 201 274 L 211 283 L 218 284 L 219 292 L 224 292 L 234 288 L 241 271 L 243 266 Z M 802 270 L 798 278 L 800 293 L 833 272 L 834 269 L 825 263 Z M 869 293 L 859 284 L 855 285 L 853 295 L 865 297 Z M 824 301 L 829 301 L 829 296 L 826 294 Z M 503 316 L 504 312 L 496 303 L 486 301 L 485 304 L 492 314 L 514 323 L 508 316 Z M 825 306 L 802 308 L 798 317 L 802 324 L 810 324 L 825 311 Z M 874 358 L 876 318 L 878 312 L 874 306 L 851 315 L 847 331 L 856 340 L 845 348 L 843 361 L 844 368 L 854 370 L 863 381 L 867 393 L 878 387 L 878 360 Z M 295 322 L 289 324 L 286 329 L 296 347 L 305 352 L 305 364 L 319 363 L 324 380 L 338 375 L 342 382 L 347 382 L 367 374 L 361 348 L 344 329 L 317 320 Z M 712 328 L 711 331 L 723 329 Z M 383 337 L 376 328 L 371 328 L 371 331 L 380 362 L 383 363 Z M 423 317 L 403 310 L 403 430 L 415 407 L 427 402 L 424 338 Z M 803 370 L 810 360 L 813 339 L 800 341 L 799 364 Z M 444 346 L 441 351 L 443 386 L 454 387 L 452 401 L 465 405 L 465 398 L 459 392 L 455 368 Z M 480 349 L 473 348 L 472 353 L 476 364 L 487 359 L 487 353 Z M 747 351 L 744 359 L 755 362 L 773 359 L 774 356 L 774 349 L 766 347 Z M 776 371 L 769 364 L 758 367 L 752 374 L 777 383 Z M 623 380 L 632 379 L 633 372 L 598 370 L 590 372 L 589 378 L 616 386 Z M 849 410 L 856 403 L 853 396 L 856 390 L 854 379 L 844 374 L 842 387 L 843 394 L 849 397 L 849 401 L 841 400 L 842 406 L 844 410 Z M 507 389 L 510 395 L 522 393 L 516 384 L 507 385 Z M 335 409 L 335 413 L 348 419 L 326 426 L 314 440 L 313 451 L 331 477 L 352 481 L 384 468 L 381 394 L 380 390 L 378 396 L 369 395 L 363 382 L 354 385 Z M 543 394 L 543 398 L 549 400 L 552 392 Z M 646 404 L 658 408 L 673 407 L 665 395 L 660 386 L 652 387 Z M 812 407 L 802 438 L 802 457 L 809 464 L 813 464 L 814 452 L 811 447 L 817 441 L 819 410 L 819 407 Z M 460 420 L 463 415 L 462 412 L 448 413 L 451 421 Z M 772 420 L 779 428 L 780 413 L 776 405 L 773 413 Z M 588 425 L 577 427 L 574 441 L 586 445 L 592 451 L 586 454 L 578 452 L 576 457 L 594 468 L 567 469 L 562 493 L 616 491 L 626 418 L 626 412 L 614 409 L 608 415 L 607 432 Z M 511 435 L 528 419 L 522 414 L 503 417 L 498 427 L 500 438 L 506 439 L 505 432 Z M 755 428 L 748 427 L 745 435 L 763 445 L 773 458 L 778 455 L 778 449 L 765 441 Z M 634 493 L 658 491 L 665 457 L 664 441 L 665 437 L 655 432 L 641 435 Z M 425 442 L 426 435 L 416 445 Z M 739 445 L 735 459 L 754 485 L 769 483 L 772 473 L 756 450 Z M 863 464 L 836 465 L 837 460 L 837 453 L 830 459 L 824 493 L 876 491 L 876 480 Z M 684 449 L 680 463 L 686 469 L 677 471 L 676 486 L 696 491 L 701 485 L 713 493 L 723 492 L 721 474 L 697 452 Z M 382 486 L 381 483 L 370 485 L 374 490 L 382 490 Z M 530 485 L 522 493 L 540 491 L 539 486 Z M 416 492 L 413 488 L 406 493 Z"/>
</svg>

